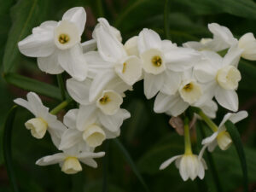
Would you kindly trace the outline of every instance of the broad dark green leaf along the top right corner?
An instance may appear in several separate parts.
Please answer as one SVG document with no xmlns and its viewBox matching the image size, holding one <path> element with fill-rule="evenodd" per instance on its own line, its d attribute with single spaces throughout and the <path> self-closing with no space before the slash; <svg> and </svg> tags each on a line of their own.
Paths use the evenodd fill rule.
<svg viewBox="0 0 256 192">
<path fill-rule="evenodd" d="M 199 15 L 227 13 L 256 20 L 256 3 L 250 0 L 176 0 Z"/>
</svg>

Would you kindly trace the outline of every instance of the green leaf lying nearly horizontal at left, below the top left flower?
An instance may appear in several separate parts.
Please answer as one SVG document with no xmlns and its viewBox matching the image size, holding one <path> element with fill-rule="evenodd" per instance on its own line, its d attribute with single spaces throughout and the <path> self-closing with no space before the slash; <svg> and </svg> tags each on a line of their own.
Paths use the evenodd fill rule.
<svg viewBox="0 0 256 192">
<path fill-rule="evenodd" d="M 38 80 L 29 79 L 15 73 L 5 74 L 4 79 L 9 84 L 14 84 L 21 89 L 30 90 L 43 96 L 49 96 L 51 98 L 61 100 L 61 91 L 51 84 L 46 84 Z"/>
</svg>

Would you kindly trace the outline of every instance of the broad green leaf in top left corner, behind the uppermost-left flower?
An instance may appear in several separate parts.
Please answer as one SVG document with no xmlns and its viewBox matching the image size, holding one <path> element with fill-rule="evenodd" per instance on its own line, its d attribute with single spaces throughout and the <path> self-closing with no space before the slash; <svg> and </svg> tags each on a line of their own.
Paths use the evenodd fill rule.
<svg viewBox="0 0 256 192">
<path fill-rule="evenodd" d="M 32 27 L 38 26 L 47 15 L 47 10 L 48 1 L 46 0 L 20 0 L 11 9 L 12 27 L 4 49 L 4 73 L 11 72 L 20 55 L 18 42 L 31 32 Z"/>
</svg>

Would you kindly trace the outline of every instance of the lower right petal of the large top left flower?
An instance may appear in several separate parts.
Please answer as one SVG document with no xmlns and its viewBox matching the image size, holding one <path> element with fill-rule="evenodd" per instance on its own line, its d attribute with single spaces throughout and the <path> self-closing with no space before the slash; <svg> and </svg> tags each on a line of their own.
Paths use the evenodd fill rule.
<svg viewBox="0 0 256 192">
<path fill-rule="evenodd" d="M 58 54 L 58 61 L 74 79 L 83 81 L 87 77 L 87 64 L 79 44 L 72 49 L 61 50 Z"/>
</svg>

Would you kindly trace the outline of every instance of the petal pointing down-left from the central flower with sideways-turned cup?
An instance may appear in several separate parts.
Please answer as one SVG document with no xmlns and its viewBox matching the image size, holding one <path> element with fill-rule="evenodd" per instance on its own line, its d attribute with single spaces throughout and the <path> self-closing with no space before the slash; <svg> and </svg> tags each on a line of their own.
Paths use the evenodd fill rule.
<svg viewBox="0 0 256 192">
<path fill-rule="evenodd" d="M 96 100 L 96 97 L 101 94 L 106 85 L 114 78 L 115 73 L 112 70 L 106 70 L 102 73 L 98 73 L 90 85 L 89 101 L 92 102 Z"/>
</svg>

